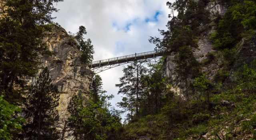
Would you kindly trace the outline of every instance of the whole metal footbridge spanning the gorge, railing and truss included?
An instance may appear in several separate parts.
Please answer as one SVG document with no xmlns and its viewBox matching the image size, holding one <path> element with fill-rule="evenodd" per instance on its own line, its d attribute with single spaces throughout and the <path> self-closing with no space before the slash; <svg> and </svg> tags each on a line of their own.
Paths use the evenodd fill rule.
<svg viewBox="0 0 256 140">
<path fill-rule="evenodd" d="M 149 51 L 149 52 L 135 53 L 135 54 L 126 55 L 126 56 L 94 61 L 91 63 L 90 69 L 97 74 L 104 70 L 108 70 L 110 68 L 114 68 L 116 66 L 131 63 L 134 61 L 138 61 L 141 63 L 142 62 L 158 62 L 162 54 L 163 54 L 162 52 Z"/>
</svg>

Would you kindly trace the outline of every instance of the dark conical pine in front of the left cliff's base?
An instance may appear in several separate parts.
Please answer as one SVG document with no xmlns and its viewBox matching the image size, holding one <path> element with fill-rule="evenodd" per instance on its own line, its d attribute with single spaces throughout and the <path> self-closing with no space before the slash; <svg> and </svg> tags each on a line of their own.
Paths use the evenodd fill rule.
<svg viewBox="0 0 256 140">
<path fill-rule="evenodd" d="M 57 140 L 59 132 L 56 122 L 59 121 L 58 107 L 60 95 L 56 86 L 51 84 L 48 68 L 39 74 L 32 84 L 24 111 L 28 123 L 24 126 L 24 137 L 28 140 Z"/>
</svg>

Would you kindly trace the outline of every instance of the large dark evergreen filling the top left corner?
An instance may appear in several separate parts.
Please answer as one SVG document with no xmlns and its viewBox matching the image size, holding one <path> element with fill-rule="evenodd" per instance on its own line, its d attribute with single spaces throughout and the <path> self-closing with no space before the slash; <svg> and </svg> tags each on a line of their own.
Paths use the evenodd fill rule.
<svg viewBox="0 0 256 140">
<path fill-rule="evenodd" d="M 2 0 L 0 10 L 0 94 L 20 102 L 26 76 L 38 72 L 38 56 L 46 53 L 43 38 L 50 31 L 54 2 L 62 0 Z M 14 89 L 15 86 L 15 89 Z M 20 90 L 20 91 L 18 91 Z"/>
</svg>

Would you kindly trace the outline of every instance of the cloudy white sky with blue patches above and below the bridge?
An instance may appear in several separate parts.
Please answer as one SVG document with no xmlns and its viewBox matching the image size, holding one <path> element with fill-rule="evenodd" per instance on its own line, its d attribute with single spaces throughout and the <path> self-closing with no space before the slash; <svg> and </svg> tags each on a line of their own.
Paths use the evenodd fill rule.
<svg viewBox="0 0 256 140">
<path fill-rule="evenodd" d="M 78 27 L 86 27 L 94 45 L 94 61 L 139 52 L 153 51 L 148 42 L 150 36 L 160 37 L 158 29 L 166 29 L 170 10 L 167 0 L 64 0 L 56 7 L 55 21 L 66 31 L 76 33 Z M 99 73 L 103 88 L 115 95 L 114 107 L 121 101 L 117 95 L 123 66 Z"/>
</svg>

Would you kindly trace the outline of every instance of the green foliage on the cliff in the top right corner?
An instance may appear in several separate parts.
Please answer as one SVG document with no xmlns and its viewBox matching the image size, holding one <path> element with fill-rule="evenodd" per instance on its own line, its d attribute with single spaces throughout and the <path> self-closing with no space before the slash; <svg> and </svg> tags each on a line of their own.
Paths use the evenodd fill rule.
<svg viewBox="0 0 256 140">
<path fill-rule="evenodd" d="M 250 30 L 255 29 L 256 4 L 252 0 L 234 0 L 223 18 L 217 21 L 216 32 L 211 39 L 216 49 L 231 49 L 235 47 L 244 33 L 255 34 Z"/>
</svg>

